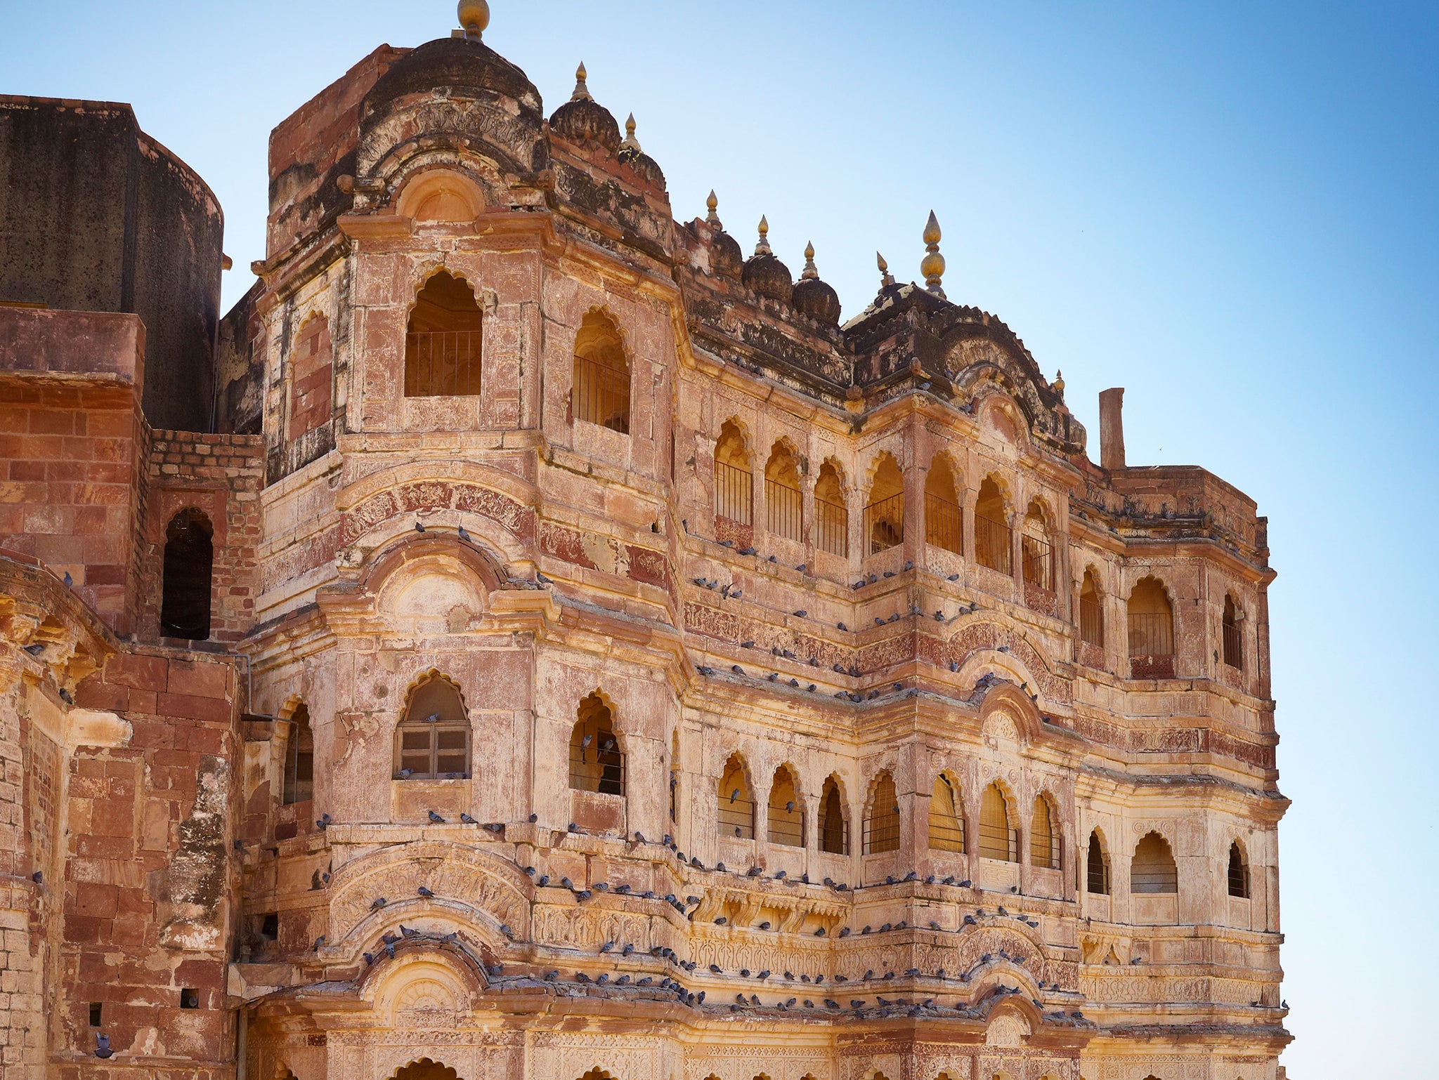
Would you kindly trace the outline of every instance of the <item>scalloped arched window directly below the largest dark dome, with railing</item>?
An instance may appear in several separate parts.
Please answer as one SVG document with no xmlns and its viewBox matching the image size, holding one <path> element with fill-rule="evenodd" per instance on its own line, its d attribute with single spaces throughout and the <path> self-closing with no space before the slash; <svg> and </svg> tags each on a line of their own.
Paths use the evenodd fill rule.
<svg viewBox="0 0 1439 1080">
<path fill-rule="evenodd" d="M 463 278 L 440 270 L 420 289 L 404 335 L 404 395 L 479 394 L 481 314 Z"/>
</svg>

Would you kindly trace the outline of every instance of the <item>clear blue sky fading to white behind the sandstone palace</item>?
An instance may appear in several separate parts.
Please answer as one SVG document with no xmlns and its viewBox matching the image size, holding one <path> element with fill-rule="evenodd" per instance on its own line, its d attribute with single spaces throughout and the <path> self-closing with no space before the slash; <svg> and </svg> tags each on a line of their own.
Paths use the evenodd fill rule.
<svg viewBox="0 0 1439 1080">
<path fill-rule="evenodd" d="M 845 316 L 875 250 L 1062 368 L 1131 465 L 1203 465 L 1269 515 L 1284 997 L 1295 1080 L 1433 1076 L 1439 6 L 491 0 L 545 114 L 590 89 L 741 243 L 813 240 Z M 0 0 L 0 92 L 127 101 L 263 255 L 266 138 L 448 0 Z M 1427 420 L 1425 417 L 1429 417 Z M 1427 433 L 1427 434 L 1426 434 Z M 1427 673 L 1427 674 L 1426 674 Z M 1422 1043 L 1430 1030 L 1429 1043 Z"/>
</svg>

